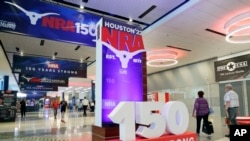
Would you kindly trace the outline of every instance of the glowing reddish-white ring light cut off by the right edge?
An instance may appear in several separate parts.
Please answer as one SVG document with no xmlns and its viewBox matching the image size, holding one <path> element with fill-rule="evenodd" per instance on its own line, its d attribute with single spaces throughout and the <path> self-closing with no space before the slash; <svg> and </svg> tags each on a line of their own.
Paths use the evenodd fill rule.
<svg viewBox="0 0 250 141">
<path fill-rule="evenodd" d="M 231 18 L 224 28 L 227 30 L 227 42 L 250 43 L 250 11 Z"/>
</svg>

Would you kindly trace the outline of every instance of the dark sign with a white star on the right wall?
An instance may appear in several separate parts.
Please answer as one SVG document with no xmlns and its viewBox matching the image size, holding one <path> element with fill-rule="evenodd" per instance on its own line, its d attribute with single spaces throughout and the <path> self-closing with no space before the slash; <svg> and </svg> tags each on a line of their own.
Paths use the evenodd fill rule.
<svg viewBox="0 0 250 141">
<path fill-rule="evenodd" d="M 249 63 L 249 54 L 227 60 L 216 61 L 214 63 L 216 82 L 250 77 Z"/>
</svg>

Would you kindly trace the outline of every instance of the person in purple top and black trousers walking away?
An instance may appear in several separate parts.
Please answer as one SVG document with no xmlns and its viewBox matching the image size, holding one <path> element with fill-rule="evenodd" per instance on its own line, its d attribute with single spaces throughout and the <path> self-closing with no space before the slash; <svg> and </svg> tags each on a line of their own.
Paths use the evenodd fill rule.
<svg viewBox="0 0 250 141">
<path fill-rule="evenodd" d="M 203 95 L 204 95 L 203 91 L 198 91 L 198 98 L 196 98 L 194 102 L 194 108 L 193 108 L 193 117 L 196 118 L 197 136 L 200 135 L 200 127 L 201 127 L 202 119 L 203 119 L 203 123 L 206 126 L 206 129 L 210 129 L 209 123 L 208 123 L 209 105 L 208 105 L 207 99 L 205 99 Z M 208 139 L 211 139 L 210 131 L 208 131 Z"/>
</svg>

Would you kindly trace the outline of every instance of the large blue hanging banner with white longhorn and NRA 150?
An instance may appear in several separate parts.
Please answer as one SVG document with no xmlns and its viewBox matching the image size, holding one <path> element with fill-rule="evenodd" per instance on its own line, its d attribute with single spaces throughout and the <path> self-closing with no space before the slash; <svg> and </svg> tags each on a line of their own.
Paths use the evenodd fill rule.
<svg viewBox="0 0 250 141">
<path fill-rule="evenodd" d="M 1 0 L 0 31 L 95 47 L 101 17 L 40 0 Z"/>
</svg>

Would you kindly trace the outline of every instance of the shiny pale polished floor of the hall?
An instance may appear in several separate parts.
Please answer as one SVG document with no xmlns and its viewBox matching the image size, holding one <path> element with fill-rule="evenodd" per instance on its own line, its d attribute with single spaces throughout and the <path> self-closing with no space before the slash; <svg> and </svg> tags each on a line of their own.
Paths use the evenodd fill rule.
<svg viewBox="0 0 250 141">
<path fill-rule="evenodd" d="M 212 138 L 201 133 L 199 141 L 229 141 L 224 138 L 226 126 L 224 119 L 211 116 L 214 123 Z M 189 131 L 195 132 L 195 118 L 190 117 Z M 0 123 L 0 141 L 92 141 L 91 125 L 94 124 L 94 113 L 88 112 L 87 117 L 82 112 L 68 111 L 66 123 L 61 122 L 60 113 L 54 119 L 53 111 L 49 109 L 40 112 L 29 112 L 25 118 L 18 114 L 15 122 Z"/>
</svg>

